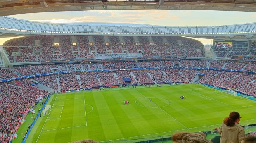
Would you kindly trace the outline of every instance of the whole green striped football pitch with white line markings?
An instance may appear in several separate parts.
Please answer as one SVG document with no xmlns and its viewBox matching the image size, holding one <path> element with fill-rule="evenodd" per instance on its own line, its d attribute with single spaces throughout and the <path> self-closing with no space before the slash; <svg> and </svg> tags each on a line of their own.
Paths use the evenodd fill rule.
<svg viewBox="0 0 256 143">
<path fill-rule="evenodd" d="M 240 113 L 241 125 L 256 123 L 255 101 L 199 84 L 62 93 L 51 96 L 47 105 L 52 110 L 39 118 L 26 143 L 120 141 L 211 131 L 231 111 Z"/>
</svg>

